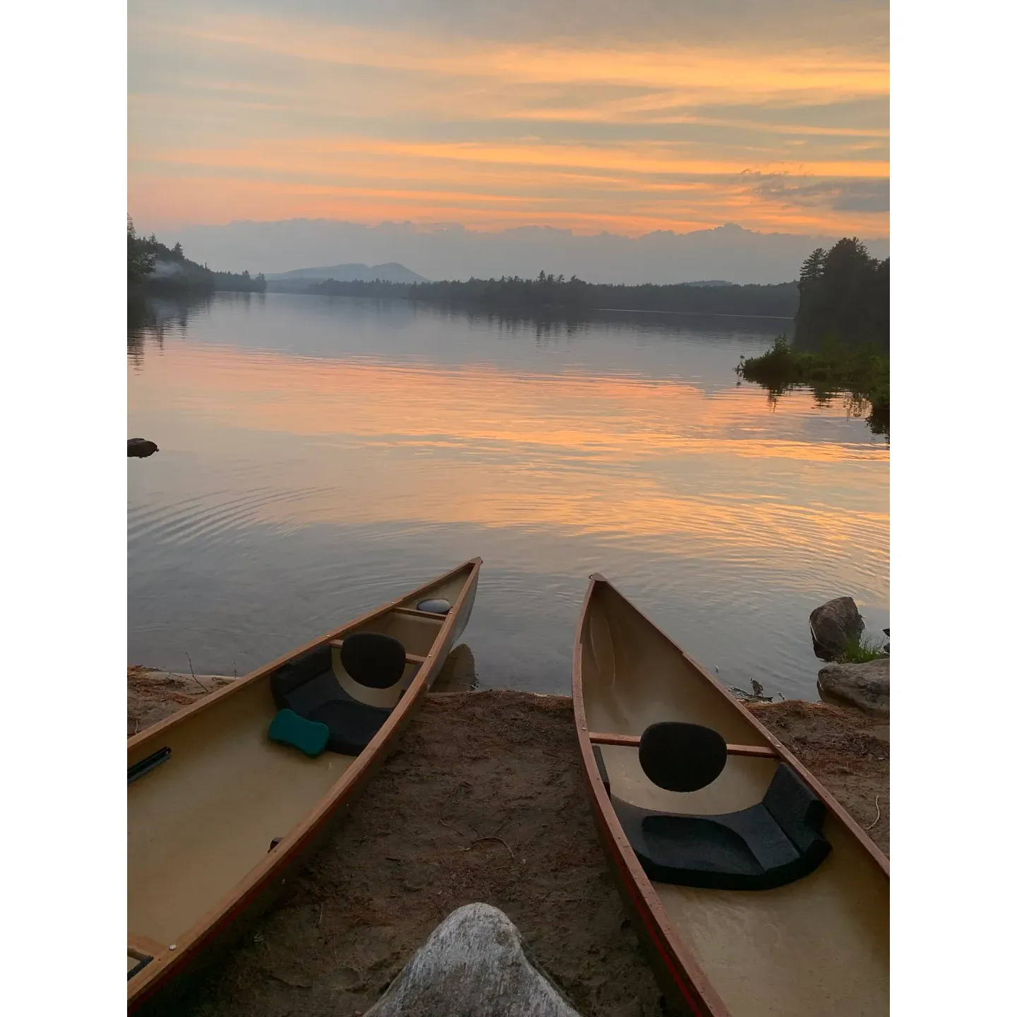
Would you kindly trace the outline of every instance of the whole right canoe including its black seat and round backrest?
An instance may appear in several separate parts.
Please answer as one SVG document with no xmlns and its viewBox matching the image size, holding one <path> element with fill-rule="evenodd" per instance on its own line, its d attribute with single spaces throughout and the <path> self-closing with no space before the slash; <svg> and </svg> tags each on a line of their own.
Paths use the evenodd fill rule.
<svg viewBox="0 0 1017 1017">
<path fill-rule="evenodd" d="M 675 1013 L 889 1013 L 886 855 L 600 575 L 573 703 L 601 841 Z"/>
</svg>

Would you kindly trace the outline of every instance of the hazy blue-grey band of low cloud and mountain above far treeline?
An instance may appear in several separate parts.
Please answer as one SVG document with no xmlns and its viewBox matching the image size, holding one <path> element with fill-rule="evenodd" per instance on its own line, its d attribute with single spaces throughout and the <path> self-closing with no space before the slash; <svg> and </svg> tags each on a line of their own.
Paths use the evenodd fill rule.
<svg viewBox="0 0 1017 1017">
<path fill-rule="evenodd" d="M 187 226 L 177 228 L 175 235 L 200 260 L 234 271 L 253 262 L 258 271 L 280 273 L 287 265 L 322 264 L 342 257 L 358 262 L 368 276 L 398 261 L 415 264 L 433 280 L 532 278 L 543 270 L 591 283 L 663 285 L 697 280 L 783 283 L 798 278 L 801 262 L 817 247 L 829 249 L 839 239 L 760 233 L 734 223 L 691 233 L 658 230 L 625 237 L 606 232 L 589 236 L 550 226 L 480 230 L 456 223 L 364 226 L 326 219 Z M 874 257 L 890 253 L 887 238 L 862 239 Z M 370 264 L 374 267 L 367 267 Z M 335 277 L 339 267 L 314 271 Z M 409 274 L 400 278 L 419 279 Z"/>
</svg>

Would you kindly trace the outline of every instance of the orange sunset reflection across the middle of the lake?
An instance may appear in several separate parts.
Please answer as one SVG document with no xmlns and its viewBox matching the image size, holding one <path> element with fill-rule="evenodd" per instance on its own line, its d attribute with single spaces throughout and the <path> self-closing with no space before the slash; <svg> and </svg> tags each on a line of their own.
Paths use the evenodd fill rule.
<svg viewBox="0 0 1017 1017">
<path fill-rule="evenodd" d="M 803 394 L 773 417 L 755 386 L 707 397 L 682 381 L 176 347 L 148 359 L 131 402 L 164 450 L 260 464 L 262 489 L 287 492 L 251 506 L 262 522 L 523 528 L 747 556 L 864 547 L 877 583 L 886 571 L 889 452 L 809 440 Z"/>
</svg>

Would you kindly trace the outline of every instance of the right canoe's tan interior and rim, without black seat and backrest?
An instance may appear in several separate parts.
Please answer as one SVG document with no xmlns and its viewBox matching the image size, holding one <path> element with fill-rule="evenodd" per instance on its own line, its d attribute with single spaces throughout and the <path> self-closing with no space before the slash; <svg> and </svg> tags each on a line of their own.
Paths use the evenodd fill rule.
<svg viewBox="0 0 1017 1017">
<path fill-rule="evenodd" d="M 889 1013 L 886 855 L 723 685 L 600 575 L 591 577 L 576 632 L 573 703 L 601 840 L 660 988 L 677 1013 Z M 646 776 L 641 736 L 661 721 L 704 725 L 723 736 L 726 765 L 718 738 L 723 769 L 712 783 L 679 793 Z M 639 816 L 663 813 L 667 823 L 675 817 L 666 828 L 675 840 L 665 851 L 687 854 L 697 838 L 677 841 L 690 830 L 681 825 L 689 817 L 723 819 L 762 807 L 781 764 L 805 786 L 802 793 L 822 802 L 816 806 L 829 853 L 817 868 L 771 889 L 676 885 L 680 881 L 669 878 L 676 870 L 667 870 L 661 882 L 655 858 L 647 862 L 655 848 L 646 846 L 646 821 Z M 626 810 L 630 803 L 636 807 Z"/>
</svg>

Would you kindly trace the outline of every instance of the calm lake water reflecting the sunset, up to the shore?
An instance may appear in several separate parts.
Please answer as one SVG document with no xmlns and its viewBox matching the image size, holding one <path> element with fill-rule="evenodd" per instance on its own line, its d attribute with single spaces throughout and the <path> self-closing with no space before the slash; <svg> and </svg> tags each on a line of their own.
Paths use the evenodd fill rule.
<svg viewBox="0 0 1017 1017">
<path fill-rule="evenodd" d="M 462 560 L 482 685 L 566 693 L 602 572 L 730 685 L 816 698 L 807 616 L 889 624 L 889 448 L 776 407 L 789 325 L 506 322 L 343 298 L 148 306 L 128 340 L 132 663 L 244 673 Z"/>
</svg>

